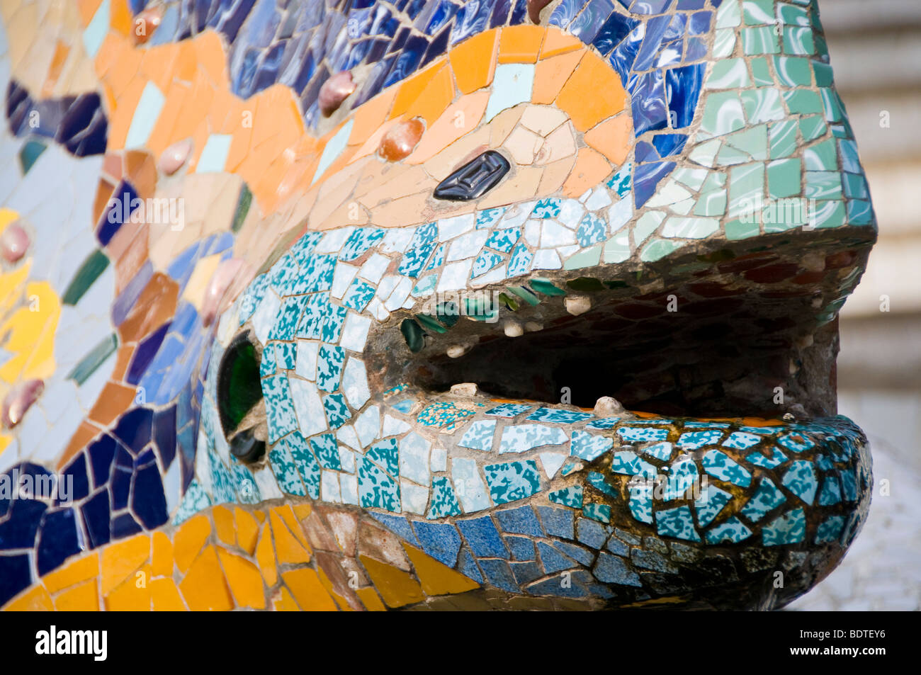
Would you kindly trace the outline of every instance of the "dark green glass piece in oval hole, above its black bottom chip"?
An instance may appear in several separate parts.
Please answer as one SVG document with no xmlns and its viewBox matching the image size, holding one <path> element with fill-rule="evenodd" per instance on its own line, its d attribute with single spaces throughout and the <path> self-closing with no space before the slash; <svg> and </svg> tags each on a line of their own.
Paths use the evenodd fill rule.
<svg viewBox="0 0 921 675">
<path fill-rule="evenodd" d="M 217 373 L 217 410 L 227 438 L 234 436 L 239 424 L 252 408 L 262 401 L 259 381 L 259 356 L 249 332 L 234 338 L 221 359 Z"/>
</svg>

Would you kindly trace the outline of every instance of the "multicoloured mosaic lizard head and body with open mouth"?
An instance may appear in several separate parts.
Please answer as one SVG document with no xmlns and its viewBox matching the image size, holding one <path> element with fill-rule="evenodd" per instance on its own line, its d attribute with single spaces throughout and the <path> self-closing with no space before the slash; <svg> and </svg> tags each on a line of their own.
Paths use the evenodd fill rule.
<svg viewBox="0 0 921 675">
<path fill-rule="evenodd" d="M 814 2 L 0 9 L 6 609 L 773 609 L 857 536 Z"/>
</svg>

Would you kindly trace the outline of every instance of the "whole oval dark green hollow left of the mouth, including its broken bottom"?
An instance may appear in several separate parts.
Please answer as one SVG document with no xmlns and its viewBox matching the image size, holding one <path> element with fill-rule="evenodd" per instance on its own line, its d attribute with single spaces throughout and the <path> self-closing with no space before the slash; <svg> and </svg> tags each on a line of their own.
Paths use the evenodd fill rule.
<svg viewBox="0 0 921 675">
<path fill-rule="evenodd" d="M 265 454 L 265 406 L 259 380 L 260 359 L 250 333 L 227 347 L 217 372 L 217 410 L 230 452 L 248 463 Z"/>
</svg>

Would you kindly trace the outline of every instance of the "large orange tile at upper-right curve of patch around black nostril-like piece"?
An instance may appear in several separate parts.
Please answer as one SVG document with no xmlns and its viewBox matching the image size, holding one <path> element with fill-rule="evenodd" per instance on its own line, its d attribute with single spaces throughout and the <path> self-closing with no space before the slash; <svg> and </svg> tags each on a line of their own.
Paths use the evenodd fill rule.
<svg viewBox="0 0 921 675">
<path fill-rule="evenodd" d="M 623 111 L 625 103 L 626 92 L 620 77 L 611 65 L 592 52 L 585 52 L 556 98 L 556 105 L 569 113 L 580 132 Z"/>
</svg>

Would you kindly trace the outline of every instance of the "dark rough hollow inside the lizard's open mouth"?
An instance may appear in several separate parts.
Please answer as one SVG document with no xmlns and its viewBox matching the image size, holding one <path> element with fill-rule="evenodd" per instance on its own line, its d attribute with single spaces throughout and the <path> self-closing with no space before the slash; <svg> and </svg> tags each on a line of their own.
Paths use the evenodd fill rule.
<svg viewBox="0 0 921 675">
<path fill-rule="evenodd" d="M 497 397 L 587 408 L 612 396 L 667 415 L 834 414 L 837 310 L 867 250 L 809 239 L 775 237 L 756 251 L 724 244 L 665 266 L 546 273 L 558 294 L 533 278 L 520 282 L 532 296 L 524 299 L 487 287 L 484 297 L 497 301 L 488 320 L 439 316 L 444 303 L 436 311 L 430 301 L 397 319 L 414 321 L 424 346 L 382 350 L 379 372 L 432 391 L 474 382 Z"/>
</svg>

